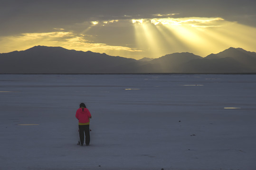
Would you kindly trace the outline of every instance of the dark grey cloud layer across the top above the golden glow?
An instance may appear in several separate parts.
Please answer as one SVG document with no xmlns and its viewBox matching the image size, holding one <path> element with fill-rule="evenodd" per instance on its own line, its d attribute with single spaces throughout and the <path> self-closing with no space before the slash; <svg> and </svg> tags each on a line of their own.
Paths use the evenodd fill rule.
<svg viewBox="0 0 256 170">
<path fill-rule="evenodd" d="M 0 35 L 50 31 L 92 20 L 222 17 L 256 26 L 255 0 L 5 0 L 0 5 Z"/>
</svg>

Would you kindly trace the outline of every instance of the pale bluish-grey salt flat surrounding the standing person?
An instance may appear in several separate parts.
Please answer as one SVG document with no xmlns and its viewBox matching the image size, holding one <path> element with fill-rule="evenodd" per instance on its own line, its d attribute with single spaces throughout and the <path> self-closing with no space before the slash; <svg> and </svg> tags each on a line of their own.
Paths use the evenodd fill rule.
<svg viewBox="0 0 256 170">
<path fill-rule="evenodd" d="M 256 170 L 256 75 L 0 75 L 0 92 L 0 170 Z"/>
</svg>

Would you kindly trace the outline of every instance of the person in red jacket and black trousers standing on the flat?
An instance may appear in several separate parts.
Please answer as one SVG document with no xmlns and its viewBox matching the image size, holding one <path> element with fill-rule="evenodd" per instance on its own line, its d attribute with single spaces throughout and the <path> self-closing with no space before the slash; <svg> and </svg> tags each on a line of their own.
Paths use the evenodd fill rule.
<svg viewBox="0 0 256 170">
<path fill-rule="evenodd" d="M 79 127 L 79 138 L 80 145 L 85 144 L 88 146 L 90 144 L 90 119 L 92 118 L 90 111 L 86 108 L 85 103 L 80 104 L 80 108 L 76 110 L 76 119 L 78 119 Z M 85 134 L 85 135 L 84 135 Z M 79 144 L 79 142 L 78 142 Z"/>
</svg>

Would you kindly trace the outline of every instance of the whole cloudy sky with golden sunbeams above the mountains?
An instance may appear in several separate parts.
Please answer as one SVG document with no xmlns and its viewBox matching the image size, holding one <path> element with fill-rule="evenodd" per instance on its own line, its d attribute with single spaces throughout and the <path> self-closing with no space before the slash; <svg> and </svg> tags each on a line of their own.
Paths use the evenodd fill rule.
<svg viewBox="0 0 256 170">
<path fill-rule="evenodd" d="M 255 0 L 0 0 L 0 53 L 60 46 L 134 59 L 256 51 Z"/>
</svg>

